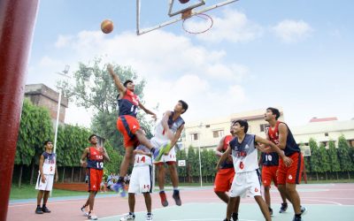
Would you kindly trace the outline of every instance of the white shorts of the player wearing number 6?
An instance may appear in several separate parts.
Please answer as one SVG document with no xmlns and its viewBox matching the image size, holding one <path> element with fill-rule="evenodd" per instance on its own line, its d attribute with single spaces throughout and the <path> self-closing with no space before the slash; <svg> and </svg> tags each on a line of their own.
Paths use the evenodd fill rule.
<svg viewBox="0 0 354 221">
<path fill-rule="evenodd" d="M 242 196 L 244 198 L 262 195 L 260 184 L 259 170 L 236 173 L 229 191 L 230 197 Z"/>
</svg>

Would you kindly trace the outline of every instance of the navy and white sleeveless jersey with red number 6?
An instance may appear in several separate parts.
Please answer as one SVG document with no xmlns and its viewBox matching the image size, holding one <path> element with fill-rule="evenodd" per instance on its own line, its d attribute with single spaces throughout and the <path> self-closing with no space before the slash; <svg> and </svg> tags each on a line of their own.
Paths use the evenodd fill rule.
<svg viewBox="0 0 354 221">
<path fill-rule="evenodd" d="M 258 151 L 255 146 L 254 134 L 246 133 L 241 143 L 238 138 L 230 141 L 235 172 L 256 171 L 258 169 Z"/>
</svg>

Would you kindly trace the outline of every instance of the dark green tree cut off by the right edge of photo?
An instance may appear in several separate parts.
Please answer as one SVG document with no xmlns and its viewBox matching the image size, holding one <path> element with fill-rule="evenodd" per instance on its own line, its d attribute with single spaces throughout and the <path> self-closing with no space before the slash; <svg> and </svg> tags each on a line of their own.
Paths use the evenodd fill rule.
<svg viewBox="0 0 354 221">
<path fill-rule="evenodd" d="M 350 147 L 344 135 L 338 138 L 338 158 L 339 164 L 341 164 L 341 171 L 347 171 L 348 178 L 350 179 L 350 171 L 354 170 L 354 165 L 350 159 Z"/>
</svg>

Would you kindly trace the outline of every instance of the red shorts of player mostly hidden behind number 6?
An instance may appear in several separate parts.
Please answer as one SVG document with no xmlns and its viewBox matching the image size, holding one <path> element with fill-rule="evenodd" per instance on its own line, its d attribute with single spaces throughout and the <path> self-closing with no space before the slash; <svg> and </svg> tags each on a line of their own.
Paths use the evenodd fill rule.
<svg viewBox="0 0 354 221">
<path fill-rule="evenodd" d="M 216 173 L 214 192 L 227 192 L 231 188 L 234 177 L 234 168 L 220 169 Z"/>
</svg>

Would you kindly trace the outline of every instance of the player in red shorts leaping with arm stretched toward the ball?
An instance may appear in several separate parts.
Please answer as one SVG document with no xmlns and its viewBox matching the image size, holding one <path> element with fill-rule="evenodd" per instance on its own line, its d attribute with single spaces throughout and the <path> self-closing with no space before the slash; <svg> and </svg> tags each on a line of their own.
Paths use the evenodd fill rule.
<svg viewBox="0 0 354 221">
<path fill-rule="evenodd" d="M 119 91 L 118 104 L 119 104 L 119 118 L 117 120 L 117 128 L 123 135 L 124 147 L 126 153 L 120 164 L 119 179 L 112 187 L 115 191 L 119 192 L 124 189 L 124 177 L 127 174 L 129 162 L 132 162 L 133 150 L 141 143 L 143 146 L 151 150 L 154 158 L 158 161 L 165 153 L 165 149 L 169 149 L 169 143 L 162 149 L 153 147 L 150 141 L 146 138 L 145 134 L 140 128 L 140 124 L 136 119 L 138 108 L 141 108 L 145 113 L 152 115 L 156 119 L 156 114 L 151 110 L 146 109 L 139 101 L 139 97 L 134 94 L 135 84 L 133 80 L 126 80 L 124 84 L 121 83 L 119 76 L 113 71 L 112 65 L 108 65 L 108 72 L 110 72 L 112 79 Z"/>
</svg>

